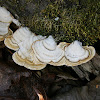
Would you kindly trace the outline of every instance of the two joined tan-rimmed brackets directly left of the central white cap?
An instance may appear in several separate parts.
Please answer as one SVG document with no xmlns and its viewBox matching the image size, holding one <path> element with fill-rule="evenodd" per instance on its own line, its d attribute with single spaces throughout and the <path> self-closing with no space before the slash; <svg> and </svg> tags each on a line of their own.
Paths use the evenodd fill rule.
<svg viewBox="0 0 100 100">
<path fill-rule="evenodd" d="M 16 52 L 12 58 L 15 63 L 20 66 L 25 66 L 28 69 L 39 70 L 46 66 L 46 64 L 35 64 L 31 59 L 32 43 L 37 40 L 42 40 L 45 37 L 29 31 L 27 27 L 20 27 L 12 35 L 5 38 L 5 45 Z"/>
</svg>

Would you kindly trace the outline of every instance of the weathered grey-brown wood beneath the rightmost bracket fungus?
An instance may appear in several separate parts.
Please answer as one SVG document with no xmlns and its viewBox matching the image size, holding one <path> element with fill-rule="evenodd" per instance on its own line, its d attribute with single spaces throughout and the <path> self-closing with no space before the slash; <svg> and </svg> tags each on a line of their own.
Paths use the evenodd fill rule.
<svg viewBox="0 0 100 100">
<path fill-rule="evenodd" d="M 100 73 L 100 56 L 96 53 L 95 57 L 87 63 L 71 67 L 80 79 L 90 81 L 91 75 L 97 76 Z"/>
</svg>

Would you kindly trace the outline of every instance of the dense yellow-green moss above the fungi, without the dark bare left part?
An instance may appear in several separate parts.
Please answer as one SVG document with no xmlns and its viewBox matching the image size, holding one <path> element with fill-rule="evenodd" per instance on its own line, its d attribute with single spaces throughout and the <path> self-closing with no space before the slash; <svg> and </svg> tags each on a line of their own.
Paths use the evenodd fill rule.
<svg viewBox="0 0 100 100">
<path fill-rule="evenodd" d="M 38 34 L 51 34 L 56 41 L 77 39 L 84 45 L 91 45 L 100 39 L 99 9 L 99 1 L 69 0 L 66 4 L 64 0 L 56 0 L 33 16 L 32 29 Z M 59 17 L 58 21 L 55 21 L 56 17 Z"/>
</svg>

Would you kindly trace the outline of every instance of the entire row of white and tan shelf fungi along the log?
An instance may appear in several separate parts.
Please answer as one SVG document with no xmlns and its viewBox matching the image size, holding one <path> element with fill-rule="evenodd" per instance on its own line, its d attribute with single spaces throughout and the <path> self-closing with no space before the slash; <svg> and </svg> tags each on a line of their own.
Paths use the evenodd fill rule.
<svg viewBox="0 0 100 100">
<path fill-rule="evenodd" d="M 15 51 L 12 59 L 20 66 L 31 70 L 41 70 L 47 64 L 77 66 L 95 56 L 95 49 L 92 46 L 82 46 L 77 40 L 72 43 L 61 42 L 57 45 L 51 35 L 49 37 L 36 35 L 22 26 L 4 38 L 11 30 L 9 28 L 11 22 L 19 24 L 5 8 L 0 7 L 0 11 L 2 12 L 0 36 L 3 37 L 5 46 Z"/>
</svg>

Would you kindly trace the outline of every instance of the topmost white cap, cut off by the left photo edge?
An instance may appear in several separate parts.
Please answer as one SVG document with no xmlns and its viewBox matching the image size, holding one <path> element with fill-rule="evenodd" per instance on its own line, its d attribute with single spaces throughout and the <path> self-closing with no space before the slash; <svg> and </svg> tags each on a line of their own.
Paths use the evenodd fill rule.
<svg viewBox="0 0 100 100">
<path fill-rule="evenodd" d="M 5 9 L 4 7 L 0 7 L 0 21 L 10 23 L 12 22 L 12 20 L 13 20 L 13 17 L 10 14 L 10 12 L 7 11 L 7 9 Z"/>
</svg>

